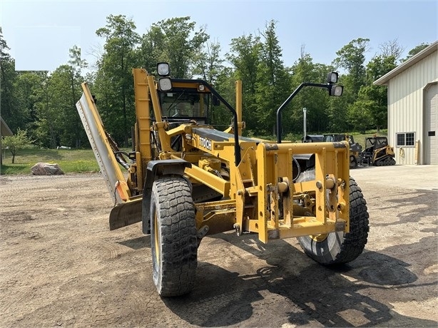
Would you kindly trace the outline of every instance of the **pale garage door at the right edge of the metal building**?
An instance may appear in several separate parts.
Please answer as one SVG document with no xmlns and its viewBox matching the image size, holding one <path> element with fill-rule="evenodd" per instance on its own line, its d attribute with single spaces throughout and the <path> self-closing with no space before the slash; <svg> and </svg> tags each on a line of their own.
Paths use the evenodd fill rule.
<svg viewBox="0 0 438 328">
<path fill-rule="evenodd" d="M 426 89 L 424 99 L 424 164 L 438 164 L 438 84 L 431 84 Z"/>
</svg>

